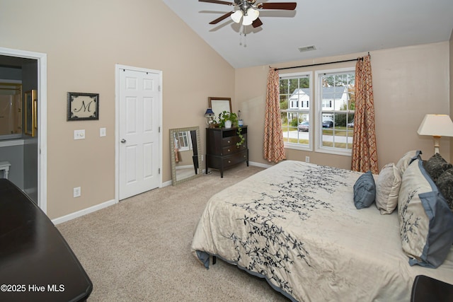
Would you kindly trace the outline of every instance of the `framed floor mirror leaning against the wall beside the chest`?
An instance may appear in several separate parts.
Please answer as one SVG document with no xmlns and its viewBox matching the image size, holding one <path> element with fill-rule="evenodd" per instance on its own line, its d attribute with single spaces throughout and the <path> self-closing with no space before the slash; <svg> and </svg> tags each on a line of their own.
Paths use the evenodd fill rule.
<svg viewBox="0 0 453 302">
<path fill-rule="evenodd" d="M 186 127 L 170 129 L 171 180 L 173 185 L 199 177 L 200 129 Z"/>
</svg>

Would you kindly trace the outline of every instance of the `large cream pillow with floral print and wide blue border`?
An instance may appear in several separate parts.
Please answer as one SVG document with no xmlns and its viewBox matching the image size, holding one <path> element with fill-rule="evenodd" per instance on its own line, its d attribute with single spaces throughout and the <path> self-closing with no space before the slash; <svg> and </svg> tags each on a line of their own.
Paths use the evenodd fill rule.
<svg viewBox="0 0 453 302">
<path fill-rule="evenodd" d="M 403 175 L 398 196 L 403 251 L 410 265 L 438 267 L 453 243 L 453 213 L 435 183 L 416 159 Z"/>
</svg>

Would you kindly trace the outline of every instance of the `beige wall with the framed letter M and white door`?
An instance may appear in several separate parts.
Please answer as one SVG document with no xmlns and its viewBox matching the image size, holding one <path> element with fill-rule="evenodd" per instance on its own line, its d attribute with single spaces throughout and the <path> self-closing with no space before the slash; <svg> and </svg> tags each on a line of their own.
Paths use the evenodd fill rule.
<svg viewBox="0 0 453 302">
<path fill-rule="evenodd" d="M 115 199 L 115 64 L 163 71 L 164 182 L 168 129 L 203 130 L 208 96 L 234 97 L 234 69 L 160 0 L 0 0 L 0 7 L 0 47 L 47 54 L 51 219 Z M 99 120 L 67 122 L 68 91 L 99 93 Z M 74 141 L 75 129 L 86 139 Z M 73 198 L 78 186 L 82 195 Z"/>
</svg>

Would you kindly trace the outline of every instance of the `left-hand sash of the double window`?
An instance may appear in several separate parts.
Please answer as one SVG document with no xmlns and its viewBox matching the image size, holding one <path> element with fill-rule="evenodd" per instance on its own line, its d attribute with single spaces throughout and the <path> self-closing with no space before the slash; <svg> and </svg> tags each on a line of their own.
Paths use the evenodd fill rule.
<svg viewBox="0 0 453 302">
<path fill-rule="evenodd" d="M 311 78 L 309 74 L 280 77 L 280 112 L 285 146 L 310 148 Z"/>
</svg>

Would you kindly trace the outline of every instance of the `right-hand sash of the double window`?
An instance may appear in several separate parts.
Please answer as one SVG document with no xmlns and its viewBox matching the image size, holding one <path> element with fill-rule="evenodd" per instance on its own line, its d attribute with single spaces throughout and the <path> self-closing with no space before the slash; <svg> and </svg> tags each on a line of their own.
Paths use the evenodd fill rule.
<svg viewBox="0 0 453 302">
<path fill-rule="evenodd" d="M 350 153 L 353 128 L 348 125 L 354 121 L 355 71 L 324 71 L 316 73 L 316 79 L 321 122 L 318 151 Z"/>
</svg>

